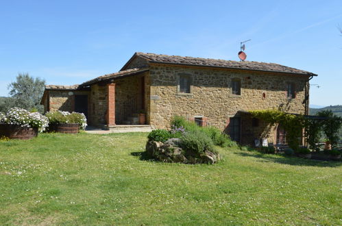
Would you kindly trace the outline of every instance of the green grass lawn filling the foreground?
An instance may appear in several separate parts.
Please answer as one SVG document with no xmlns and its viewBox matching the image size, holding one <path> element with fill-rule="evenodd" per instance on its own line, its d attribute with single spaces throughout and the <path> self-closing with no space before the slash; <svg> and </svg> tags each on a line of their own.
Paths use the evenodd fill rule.
<svg viewBox="0 0 342 226">
<path fill-rule="evenodd" d="M 215 165 L 144 160 L 147 134 L 0 142 L 0 225 L 342 224 L 341 162 L 219 149 Z"/>
</svg>

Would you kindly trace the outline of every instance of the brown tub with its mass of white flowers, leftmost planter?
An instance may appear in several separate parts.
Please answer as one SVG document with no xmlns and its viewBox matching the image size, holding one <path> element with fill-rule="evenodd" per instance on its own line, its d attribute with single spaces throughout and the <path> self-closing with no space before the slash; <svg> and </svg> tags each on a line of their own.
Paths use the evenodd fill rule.
<svg viewBox="0 0 342 226">
<path fill-rule="evenodd" d="M 48 124 L 47 117 L 39 112 L 29 112 L 23 108 L 11 108 L 6 114 L 0 112 L 0 136 L 10 139 L 33 138 Z"/>
</svg>

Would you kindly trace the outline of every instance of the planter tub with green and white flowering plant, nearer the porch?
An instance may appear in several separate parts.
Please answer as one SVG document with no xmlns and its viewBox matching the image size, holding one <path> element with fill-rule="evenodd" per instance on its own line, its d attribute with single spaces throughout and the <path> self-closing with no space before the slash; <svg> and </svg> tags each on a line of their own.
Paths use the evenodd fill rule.
<svg viewBox="0 0 342 226">
<path fill-rule="evenodd" d="M 47 112 L 49 118 L 48 131 L 64 134 L 77 134 L 80 129 L 86 129 L 86 116 L 77 112 Z"/>
</svg>

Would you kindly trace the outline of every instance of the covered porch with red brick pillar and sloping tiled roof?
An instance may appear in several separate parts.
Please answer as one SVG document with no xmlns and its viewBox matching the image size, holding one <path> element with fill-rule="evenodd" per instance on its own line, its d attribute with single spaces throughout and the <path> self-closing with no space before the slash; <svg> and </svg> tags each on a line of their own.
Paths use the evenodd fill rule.
<svg viewBox="0 0 342 226">
<path fill-rule="evenodd" d="M 90 88 L 88 124 L 110 131 L 149 130 L 148 68 L 103 75 L 82 86 Z"/>
</svg>

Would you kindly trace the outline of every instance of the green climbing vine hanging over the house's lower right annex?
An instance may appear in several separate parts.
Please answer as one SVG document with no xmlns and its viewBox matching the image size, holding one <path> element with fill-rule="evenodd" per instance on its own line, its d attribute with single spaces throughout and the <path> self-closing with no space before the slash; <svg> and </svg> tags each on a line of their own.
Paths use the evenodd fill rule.
<svg viewBox="0 0 342 226">
<path fill-rule="evenodd" d="M 302 115 L 288 114 L 280 110 L 252 110 L 252 116 L 259 118 L 270 125 L 280 124 L 286 131 L 286 139 L 292 149 L 300 146 L 304 117 Z"/>
</svg>

